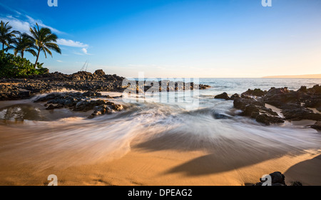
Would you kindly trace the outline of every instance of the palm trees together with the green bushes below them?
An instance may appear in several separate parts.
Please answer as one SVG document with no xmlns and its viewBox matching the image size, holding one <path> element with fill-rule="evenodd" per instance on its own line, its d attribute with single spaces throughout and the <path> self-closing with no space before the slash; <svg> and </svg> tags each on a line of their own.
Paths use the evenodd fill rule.
<svg viewBox="0 0 321 200">
<path fill-rule="evenodd" d="M 40 53 L 43 52 L 52 57 L 51 51 L 61 53 L 61 48 L 57 45 L 58 36 L 52 33 L 49 28 L 30 27 L 30 33 L 20 33 L 12 30 L 9 22 L 0 23 L 0 77 L 26 77 L 49 73 L 47 68 L 43 68 L 44 63 L 39 63 Z M 13 50 L 14 54 L 7 51 Z M 35 63 L 24 58 L 25 53 L 31 53 L 36 57 Z"/>
</svg>

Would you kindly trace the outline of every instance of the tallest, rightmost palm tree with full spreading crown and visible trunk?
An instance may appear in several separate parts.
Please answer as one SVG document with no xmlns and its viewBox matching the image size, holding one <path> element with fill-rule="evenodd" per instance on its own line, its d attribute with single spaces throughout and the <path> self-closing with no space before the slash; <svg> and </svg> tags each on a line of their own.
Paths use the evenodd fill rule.
<svg viewBox="0 0 321 200">
<path fill-rule="evenodd" d="M 44 55 L 47 58 L 48 53 L 52 57 L 52 53 L 49 49 L 56 51 L 57 53 L 61 54 L 61 49 L 56 44 L 56 41 L 58 37 L 56 34 L 51 33 L 51 30 L 49 28 L 41 28 L 39 29 L 38 23 L 36 23 L 37 27 L 31 28 L 31 40 L 34 42 L 34 45 L 36 46 L 37 58 L 36 63 L 34 64 L 34 68 L 36 68 L 36 65 L 38 63 L 39 55 L 41 51 L 44 51 Z"/>
</svg>

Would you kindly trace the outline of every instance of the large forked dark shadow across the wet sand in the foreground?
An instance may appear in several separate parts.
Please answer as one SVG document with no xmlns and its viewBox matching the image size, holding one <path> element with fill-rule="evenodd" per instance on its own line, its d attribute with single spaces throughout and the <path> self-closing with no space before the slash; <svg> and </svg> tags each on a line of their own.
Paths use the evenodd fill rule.
<svg viewBox="0 0 321 200">
<path fill-rule="evenodd" d="M 284 155 L 299 155 L 302 149 L 287 144 L 275 142 L 267 138 L 235 138 L 202 137 L 187 133 L 166 133 L 151 138 L 133 146 L 146 151 L 176 150 L 188 152 L 202 150 L 207 153 L 201 157 L 191 159 L 184 164 L 173 167 L 165 174 L 184 173 L 186 176 L 200 176 L 227 172 L 240 167 L 250 166 L 268 159 L 275 159 Z"/>
</svg>

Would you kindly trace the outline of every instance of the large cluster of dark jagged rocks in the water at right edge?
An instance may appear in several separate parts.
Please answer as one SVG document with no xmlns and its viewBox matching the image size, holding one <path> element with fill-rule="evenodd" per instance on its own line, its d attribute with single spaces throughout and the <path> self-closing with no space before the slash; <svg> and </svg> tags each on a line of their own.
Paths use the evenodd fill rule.
<svg viewBox="0 0 321 200">
<path fill-rule="evenodd" d="M 288 88 L 271 88 L 268 91 L 249 89 L 241 95 L 229 97 L 227 93 L 222 93 L 215 98 L 234 100 L 234 107 L 243 110 L 240 115 L 252 117 L 265 125 L 284 123 L 285 120 L 315 120 L 317 122 L 311 127 L 320 130 L 321 114 L 315 112 L 321 111 L 320 85 L 312 88 L 302 86 L 297 91 Z M 267 108 L 266 104 L 282 110 L 282 116 Z"/>
</svg>

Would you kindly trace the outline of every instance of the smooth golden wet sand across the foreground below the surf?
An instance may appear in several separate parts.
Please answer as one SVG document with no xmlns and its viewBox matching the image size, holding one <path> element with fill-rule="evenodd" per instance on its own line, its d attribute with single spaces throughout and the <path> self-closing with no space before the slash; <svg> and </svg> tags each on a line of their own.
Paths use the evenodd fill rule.
<svg viewBox="0 0 321 200">
<path fill-rule="evenodd" d="M 46 145 L 37 147 L 29 143 L 34 140 L 31 132 L 21 134 L 21 127 L 2 125 L 1 128 L 0 185 L 42 186 L 49 183 L 47 177 L 50 174 L 56 174 L 58 185 L 67 186 L 242 186 L 253 184 L 263 174 L 275 171 L 285 173 L 287 184 L 301 181 L 304 185 L 321 185 L 321 152 L 316 149 L 286 152 L 268 148 L 249 154 L 249 146 L 245 143 L 229 140 L 220 141 L 220 144 L 229 142 L 233 144 L 231 148 L 210 147 L 209 143 L 204 142 L 200 148 L 185 149 L 175 141 L 186 135 L 176 138 L 164 135 L 148 140 L 133 137 L 130 149 L 123 149 L 121 153 L 97 155 L 97 152 L 92 154 L 91 144 L 88 142 L 83 149 L 61 149 L 63 146 L 59 147 L 58 144 L 49 145 L 49 148 Z M 68 125 L 65 130 L 72 128 Z M 46 137 L 41 130 L 34 132 L 39 132 L 34 134 L 41 138 L 38 142 L 46 142 L 48 138 L 50 141 L 50 137 Z M 63 140 L 68 140 L 68 137 Z M 20 152 L 14 150 L 14 142 L 19 145 Z M 95 145 L 100 144 L 97 142 Z M 78 144 L 74 146 L 78 147 Z M 25 149 L 25 152 L 21 149 Z M 88 159 L 86 151 L 87 156 L 95 155 L 97 159 Z"/>
</svg>

